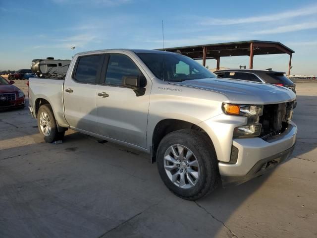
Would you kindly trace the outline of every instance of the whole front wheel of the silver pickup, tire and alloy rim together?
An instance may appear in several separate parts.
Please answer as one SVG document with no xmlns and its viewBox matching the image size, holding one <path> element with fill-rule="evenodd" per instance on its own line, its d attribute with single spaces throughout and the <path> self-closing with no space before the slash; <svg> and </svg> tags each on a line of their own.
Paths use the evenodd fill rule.
<svg viewBox="0 0 317 238">
<path fill-rule="evenodd" d="M 171 149 L 173 146 L 174 154 Z M 179 154 L 181 147 L 179 148 L 178 146 L 183 147 L 185 164 L 177 160 L 177 158 L 182 158 Z M 187 155 L 190 156 L 188 151 L 192 152 L 193 155 L 185 159 Z M 178 157 L 174 156 L 173 160 L 173 155 L 175 154 L 178 154 Z M 172 162 L 169 161 L 170 158 Z M 181 129 L 167 134 L 159 143 L 157 163 L 159 175 L 164 184 L 174 194 L 183 199 L 197 200 L 204 197 L 217 187 L 220 179 L 213 146 L 202 132 L 196 130 Z M 177 168 L 175 168 L 175 164 Z M 190 166 L 190 164 L 194 166 Z M 165 170 L 165 168 L 168 168 L 168 170 Z M 169 171 L 171 168 L 174 169 Z M 181 172 L 182 170 L 183 172 Z M 183 177 L 181 174 L 184 174 Z M 176 178 L 175 176 L 178 177 L 178 180 L 174 179 Z M 197 180 L 196 177 L 198 177 Z M 185 184 L 181 182 L 181 178 L 183 178 L 182 181 L 185 181 Z"/>
</svg>

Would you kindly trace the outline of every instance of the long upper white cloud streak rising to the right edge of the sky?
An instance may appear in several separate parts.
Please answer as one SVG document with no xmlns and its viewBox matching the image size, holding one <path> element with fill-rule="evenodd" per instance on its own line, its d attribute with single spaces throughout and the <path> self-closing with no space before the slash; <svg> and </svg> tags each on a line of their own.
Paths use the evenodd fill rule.
<svg viewBox="0 0 317 238">
<path fill-rule="evenodd" d="M 252 16 L 244 18 L 204 18 L 200 24 L 202 25 L 233 25 L 233 24 L 243 24 L 243 23 L 256 23 L 256 22 L 267 22 L 267 21 L 278 21 L 287 18 L 293 18 L 298 16 L 307 16 L 317 13 L 317 5 L 311 7 L 305 7 L 295 10 L 289 10 L 284 12 L 279 12 L 276 14 L 262 15 L 262 16 Z"/>
</svg>

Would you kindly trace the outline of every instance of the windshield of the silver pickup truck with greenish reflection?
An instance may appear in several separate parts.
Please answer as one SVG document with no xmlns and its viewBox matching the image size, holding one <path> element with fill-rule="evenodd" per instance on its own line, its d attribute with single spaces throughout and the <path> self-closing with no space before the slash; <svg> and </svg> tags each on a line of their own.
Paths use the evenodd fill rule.
<svg viewBox="0 0 317 238">
<path fill-rule="evenodd" d="M 164 81 L 217 78 L 217 75 L 187 56 L 164 53 L 138 53 L 137 55 L 157 78 Z"/>
</svg>

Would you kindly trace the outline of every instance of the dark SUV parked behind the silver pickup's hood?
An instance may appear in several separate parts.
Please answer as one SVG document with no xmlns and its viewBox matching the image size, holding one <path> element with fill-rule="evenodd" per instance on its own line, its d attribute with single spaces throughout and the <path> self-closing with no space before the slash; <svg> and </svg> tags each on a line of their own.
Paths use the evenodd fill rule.
<svg viewBox="0 0 317 238">
<path fill-rule="evenodd" d="M 285 72 L 257 69 L 224 69 L 214 72 L 221 78 L 235 78 L 253 82 L 271 83 L 291 89 L 294 93 L 295 83 L 285 76 Z"/>
</svg>

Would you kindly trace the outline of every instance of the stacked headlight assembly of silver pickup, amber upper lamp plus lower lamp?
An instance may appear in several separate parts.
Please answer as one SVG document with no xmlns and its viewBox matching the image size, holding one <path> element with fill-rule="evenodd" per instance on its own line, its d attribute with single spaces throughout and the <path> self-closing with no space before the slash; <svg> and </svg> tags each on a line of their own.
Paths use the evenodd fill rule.
<svg viewBox="0 0 317 238">
<path fill-rule="evenodd" d="M 227 115 L 247 117 L 247 124 L 238 126 L 233 130 L 234 137 L 259 136 L 262 124 L 259 123 L 263 115 L 263 105 L 242 105 L 223 103 L 222 111 Z"/>
</svg>

